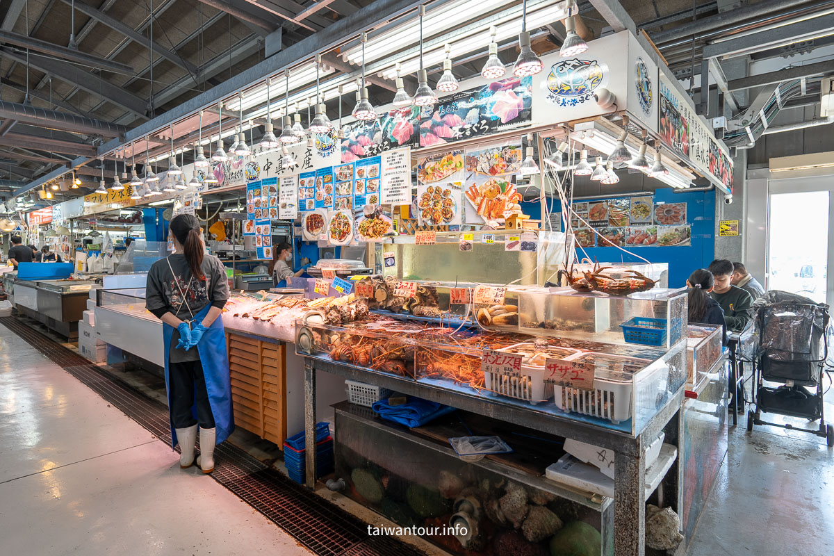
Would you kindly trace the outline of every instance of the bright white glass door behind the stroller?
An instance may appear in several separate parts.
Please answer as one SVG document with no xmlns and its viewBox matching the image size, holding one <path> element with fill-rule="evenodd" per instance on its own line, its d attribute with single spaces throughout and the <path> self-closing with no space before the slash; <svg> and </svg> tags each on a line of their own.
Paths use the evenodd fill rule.
<svg viewBox="0 0 834 556">
<path fill-rule="evenodd" d="M 766 289 L 831 304 L 828 257 L 831 191 L 772 193 L 767 226 Z"/>
</svg>

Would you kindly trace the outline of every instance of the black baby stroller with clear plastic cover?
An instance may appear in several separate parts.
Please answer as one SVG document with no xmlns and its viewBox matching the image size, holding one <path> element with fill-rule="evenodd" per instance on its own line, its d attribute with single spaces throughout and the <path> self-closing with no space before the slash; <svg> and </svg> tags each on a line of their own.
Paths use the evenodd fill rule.
<svg viewBox="0 0 834 556">
<path fill-rule="evenodd" d="M 826 438 L 834 446 L 834 428 L 823 415 L 822 372 L 828 357 L 828 306 L 795 293 L 767 292 L 753 303 L 756 326 L 753 407 L 747 413 L 747 430 L 753 424 L 804 430 Z M 781 386 L 765 386 L 781 383 Z M 796 428 L 790 423 L 767 423 L 761 413 L 820 420 L 819 430 Z"/>
</svg>

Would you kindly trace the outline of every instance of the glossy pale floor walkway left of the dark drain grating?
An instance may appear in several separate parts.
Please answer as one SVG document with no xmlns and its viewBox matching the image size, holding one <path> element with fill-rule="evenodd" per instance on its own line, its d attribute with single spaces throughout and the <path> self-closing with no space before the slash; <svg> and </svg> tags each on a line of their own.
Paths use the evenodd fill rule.
<svg viewBox="0 0 834 556">
<path fill-rule="evenodd" d="M 0 326 L 3 553 L 309 554 Z"/>
</svg>

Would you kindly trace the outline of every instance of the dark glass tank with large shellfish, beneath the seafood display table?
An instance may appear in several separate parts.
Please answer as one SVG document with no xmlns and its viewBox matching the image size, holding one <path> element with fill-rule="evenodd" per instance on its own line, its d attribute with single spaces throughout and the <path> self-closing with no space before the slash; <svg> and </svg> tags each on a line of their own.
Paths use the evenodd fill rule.
<svg viewBox="0 0 834 556">
<path fill-rule="evenodd" d="M 446 438 L 374 418 L 369 408 L 337 405 L 335 428 L 335 474 L 347 484 L 344 494 L 399 526 L 425 528 L 423 538 L 449 553 L 614 553 L 611 498 L 562 488 L 534 464 L 465 461 Z M 540 462 L 563 453 L 554 441 L 539 445 Z"/>
</svg>

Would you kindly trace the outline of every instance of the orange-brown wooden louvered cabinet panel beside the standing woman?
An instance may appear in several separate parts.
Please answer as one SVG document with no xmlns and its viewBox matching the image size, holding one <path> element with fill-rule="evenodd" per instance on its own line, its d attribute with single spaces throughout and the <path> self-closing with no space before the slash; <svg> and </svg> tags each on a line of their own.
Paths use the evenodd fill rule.
<svg viewBox="0 0 834 556">
<path fill-rule="evenodd" d="M 286 344 L 226 333 L 234 424 L 274 442 L 287 438 Z"/>
</svg>

